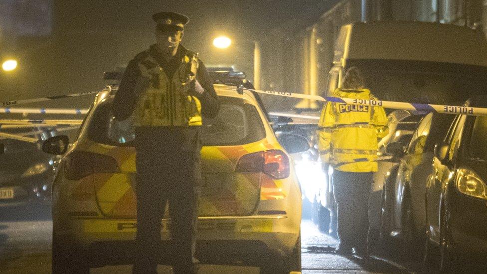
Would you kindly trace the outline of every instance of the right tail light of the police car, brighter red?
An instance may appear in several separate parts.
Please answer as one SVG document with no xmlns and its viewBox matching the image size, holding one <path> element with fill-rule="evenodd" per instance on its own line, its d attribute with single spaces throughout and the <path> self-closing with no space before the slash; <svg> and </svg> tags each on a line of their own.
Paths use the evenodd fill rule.
<svg viewBox="0 0 487 274">
<path fill-rule="evenodd" d="M 281 150 L 267 150 L 240 157 L 236 172 L 263 172 L 274 179 L 289 177 L 289 158 Z"/>
</svg>

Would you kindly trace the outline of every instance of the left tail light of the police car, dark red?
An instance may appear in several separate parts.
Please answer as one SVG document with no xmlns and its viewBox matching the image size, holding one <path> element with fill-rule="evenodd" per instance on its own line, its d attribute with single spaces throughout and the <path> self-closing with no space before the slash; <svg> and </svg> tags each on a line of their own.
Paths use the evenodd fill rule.
<svg viewBox="0 0 487 274">
<path fill-rule="evenodd" d="M 81 180 L 93 173 L 118 173 L 117 161 L 110 156 L 91 152 L 72 152 L 66 157 L 65 177 Z"/>
</svg>

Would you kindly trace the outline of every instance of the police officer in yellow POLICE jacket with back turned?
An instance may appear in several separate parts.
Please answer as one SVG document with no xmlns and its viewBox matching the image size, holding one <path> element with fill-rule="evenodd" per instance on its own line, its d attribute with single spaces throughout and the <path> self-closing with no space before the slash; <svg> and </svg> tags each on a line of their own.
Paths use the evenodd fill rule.
<svg viewBox="0 0 487 274">
<path fill-rule="evenodd" d="M 335 97 L 375 99 L 364 88 L 364 78 L 351 67 L 343 88 Z M 352 248 L 359 256 L 367 255 L 369 229 L 368 197 L 377 171 L 377 141 L 387 134 L 387 117 L 382 107 L 328 102 L 319 121 L 319 151 L 322 161 L 334 167 L 333 191 L 338 204 L 338 254 L 349 256 Z"/>
</svg>

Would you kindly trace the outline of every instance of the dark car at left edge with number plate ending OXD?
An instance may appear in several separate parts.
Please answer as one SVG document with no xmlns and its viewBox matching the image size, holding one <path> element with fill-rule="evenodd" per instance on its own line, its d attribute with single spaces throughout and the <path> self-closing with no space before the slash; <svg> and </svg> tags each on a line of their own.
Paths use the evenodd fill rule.
<svg viewBox="0 0 487 274">
<path fill-rule="evenodd" d="M 0 207 L 16 206 L 50 197 L 55 158 L 37 143 L 0 140 Z"/>
</svg>

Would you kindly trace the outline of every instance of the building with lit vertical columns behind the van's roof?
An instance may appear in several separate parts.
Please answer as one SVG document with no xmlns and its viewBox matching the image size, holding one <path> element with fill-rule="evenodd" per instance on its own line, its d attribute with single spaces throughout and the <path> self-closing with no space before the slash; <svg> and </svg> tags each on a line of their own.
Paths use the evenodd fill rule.
<svg viewBox="0 0 487 274">
<path fill-rule="evenodd" d="M 307 25 L 302 25 L 303 21 L 289 21 L 274 29 L 262 43 L 262 89 L 321 95 L 327 86 L 340 26 L 362 20 L 439 22 L 485 30 L 487 3 L 482 0 L 334 1 L 314 21 L 304 22 Z M 291 104 L 281 99 L 275 107 L 293 107 L 296 102 Z M 316 104 L 303 100 L 298 106 L 307 108 Z"/>
</svg>

